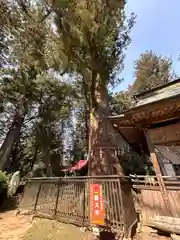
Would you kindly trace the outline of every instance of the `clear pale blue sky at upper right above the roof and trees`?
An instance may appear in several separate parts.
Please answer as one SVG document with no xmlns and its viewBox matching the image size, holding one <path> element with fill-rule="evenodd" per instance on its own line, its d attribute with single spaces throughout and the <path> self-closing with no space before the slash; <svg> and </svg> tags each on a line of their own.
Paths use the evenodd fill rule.
<svg viewBox="0 0 180 240">
<path fill-rule="evenodd" d="M 135 12 L 136 24 L 131 31 L 125 68 L 121 73 L 124 81 L 116 91 L 127 88 L 134 79 L 133 65 L 139 55 L 146 50 L 172 57 L 173 68 L 180 76 L 180 0 L 128 0 L 127 14 Z"/>
</svg>

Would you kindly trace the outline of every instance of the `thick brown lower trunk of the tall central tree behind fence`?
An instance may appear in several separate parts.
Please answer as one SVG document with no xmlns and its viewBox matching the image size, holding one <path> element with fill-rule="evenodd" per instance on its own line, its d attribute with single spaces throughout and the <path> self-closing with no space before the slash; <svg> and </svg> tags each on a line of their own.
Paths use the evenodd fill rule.
<svg viewBox="0 0 180 240">
<path fill-rule="evenodd" d="M 88 174 L 92 176 L 124 175 L 121 159 L 118 158 L 118 155 L 121 155 L 129 145 L 116 132 L 108 119 L 109 115 L 107 88 L 100 85 L 95 88 L 90 110 L 89 150 L 91 156 Z"/>
</svg>

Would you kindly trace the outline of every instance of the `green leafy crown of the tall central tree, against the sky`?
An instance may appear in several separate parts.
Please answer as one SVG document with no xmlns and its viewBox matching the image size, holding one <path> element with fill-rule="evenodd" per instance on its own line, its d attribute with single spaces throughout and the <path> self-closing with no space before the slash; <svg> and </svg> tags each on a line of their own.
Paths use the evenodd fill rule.
<svg viewBox="0 0 180 240">
<path fill-rule="evenodd" d="M 49 66 L 78 76 L 90 107 L 98 85 L 120 82 L 116 74 L 123 68 L 135 16 L 126 18 L 124 0 L 50 1 L 50 6 L 56 31 L 46 49 Z"/>
</svg>

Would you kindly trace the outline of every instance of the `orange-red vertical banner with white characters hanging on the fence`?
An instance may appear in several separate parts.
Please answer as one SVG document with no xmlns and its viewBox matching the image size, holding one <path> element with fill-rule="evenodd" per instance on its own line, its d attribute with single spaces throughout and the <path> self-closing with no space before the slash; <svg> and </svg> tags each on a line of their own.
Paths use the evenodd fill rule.
<svg viewBox="0 0 180 240">
<path fill-rule="evenodd" d="M 104 199 L 101 184 L 90 185 L 90 220 L 92 224 L 104 225 Z"/>
</svg>

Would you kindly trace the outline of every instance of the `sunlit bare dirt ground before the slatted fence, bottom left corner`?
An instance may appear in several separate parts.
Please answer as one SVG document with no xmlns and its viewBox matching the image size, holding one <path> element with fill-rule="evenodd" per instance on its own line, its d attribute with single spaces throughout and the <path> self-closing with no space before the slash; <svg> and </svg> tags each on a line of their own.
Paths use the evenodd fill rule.
<svg viewBox="0 0 180 240">
<path fill-rule="evenodd" d="M 92 240 L 90 232 L 53 220 L 18 215 L 16 211 L 0 213 L 0 240 Z"/>
</svg>

